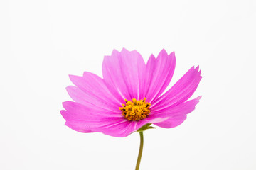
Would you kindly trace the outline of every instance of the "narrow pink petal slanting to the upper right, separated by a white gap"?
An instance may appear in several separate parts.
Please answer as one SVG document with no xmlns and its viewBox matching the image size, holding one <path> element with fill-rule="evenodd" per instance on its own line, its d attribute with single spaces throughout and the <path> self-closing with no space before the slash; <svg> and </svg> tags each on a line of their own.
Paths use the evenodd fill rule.
<svg viewBox="0 0 256 170">
<path fill-rule="evenodd" d="M 198 72 L 198 69 L 198 67 L 196 69 L 191 67 L 169 91 L 166 91 L 165 94 L 151 103 L 151 111 L 154 112 L 163 108 L 170 108 L 188 100 L 193 92 L 196 91 L 202 78 L 201 71 Z"/>
</svg>

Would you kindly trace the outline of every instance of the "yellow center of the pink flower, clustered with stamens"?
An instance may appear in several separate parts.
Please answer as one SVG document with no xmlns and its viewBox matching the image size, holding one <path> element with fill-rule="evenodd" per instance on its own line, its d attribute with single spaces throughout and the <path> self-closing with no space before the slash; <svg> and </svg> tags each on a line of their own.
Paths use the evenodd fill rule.
<svg viewBox="0 0 256 170">
<path fill-rule="evenodd" d="M 135 98 L 132 101 L 124 100 L 125 104 L 119 110 L 122 111 L 122 115 L 129 121 L 139 121 L 149 116 L 150 103 L 146 103 L 146 98 L 137 101 Z"/>
</svg>

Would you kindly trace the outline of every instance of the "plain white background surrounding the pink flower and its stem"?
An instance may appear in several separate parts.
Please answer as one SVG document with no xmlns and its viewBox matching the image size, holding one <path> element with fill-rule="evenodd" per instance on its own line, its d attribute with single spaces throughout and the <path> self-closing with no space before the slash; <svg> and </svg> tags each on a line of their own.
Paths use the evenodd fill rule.
<svg viewBox="0 0 256 170">
<path fill-rule="evenodd" d="M 112 50 L 176 52 L 203 79 L 177 128 L 144 132 L 141 169 L 256 169 L 255 1 L 1 1 L 0 169 L 134 169 L 139 135 L 64 126 L 68 74 Z"/>
</svg>

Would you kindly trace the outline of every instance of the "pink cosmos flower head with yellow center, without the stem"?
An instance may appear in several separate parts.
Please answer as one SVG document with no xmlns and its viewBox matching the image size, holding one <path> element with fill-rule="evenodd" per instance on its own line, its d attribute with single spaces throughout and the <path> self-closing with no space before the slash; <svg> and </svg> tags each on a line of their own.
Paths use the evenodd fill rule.
<svg viewBox="0 0 256 170">
<path fill-rule="evenodd" d="M 180 125 L 201 98 L 188 101 L 202 77 L 198 67 L 191 67 L 163 94 L 175 64 L 174 52 L 168 55 L 166 50 L 157 58 L 151 55 L 146 64 L 136 50 L 113 50 L 104 57 L 103 79 L 90 72 L 70 75 L 75 86 L 67 91 L 74 102 L 63 102 L 65 125 L 114 137 L 126 137 L 148 123 L 161 128 Z"/>
</svg>

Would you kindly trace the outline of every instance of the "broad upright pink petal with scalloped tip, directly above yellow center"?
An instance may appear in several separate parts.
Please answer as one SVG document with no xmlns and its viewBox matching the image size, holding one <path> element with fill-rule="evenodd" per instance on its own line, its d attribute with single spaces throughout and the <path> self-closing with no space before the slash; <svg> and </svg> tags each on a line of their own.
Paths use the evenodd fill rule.
<svg viewBox="0 0 256 170">
<path fill-rule="evenodd" d="M 105 84 L 121 103 L 124 99 L 139 99 L 146 70 L 146 64 L 139 52 L 113 50 L 111 56 L 105 56 L 102 70 Z"/>
</svg>

